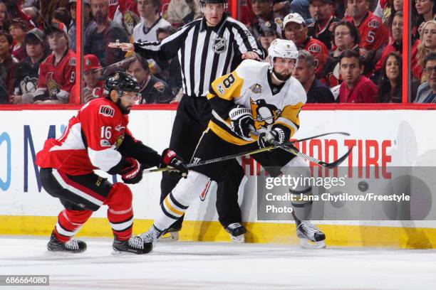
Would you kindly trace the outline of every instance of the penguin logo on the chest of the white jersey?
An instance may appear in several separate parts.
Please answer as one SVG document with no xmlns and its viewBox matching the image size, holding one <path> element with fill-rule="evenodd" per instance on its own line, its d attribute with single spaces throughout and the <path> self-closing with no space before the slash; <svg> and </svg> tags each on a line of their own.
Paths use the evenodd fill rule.
<svg viewBox="0 0 436 290">
<path fill-rule="evenodd" d="M 256 129 L 274 124 L 281 114 L 281 109 L 277 109 L 274 104 L 267 104 L 263 99 L 256 101 L 250 99 L 250 107 Z"/>
</svg>

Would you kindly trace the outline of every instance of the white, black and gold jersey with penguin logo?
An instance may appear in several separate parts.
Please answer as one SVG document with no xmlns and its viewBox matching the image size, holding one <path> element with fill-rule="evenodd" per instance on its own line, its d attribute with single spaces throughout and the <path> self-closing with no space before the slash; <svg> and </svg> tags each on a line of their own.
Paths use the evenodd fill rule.
<svg viewBox="0 0 436 290">
<path fill-rule="evenodd" d="M 228 117 L 231 105 L 241 104 L 251 109 L 256 129 L 271 129 L 281 125 L 290 131 L 290 136 L 299 129 L 299 112 L 306 103 L 306 91 L 294 77 L 276 86 L 271 82 L 269 63 L 244 60 L 228 75 L 212 82 L 207 98 L 212 106 L 209 129 L 222 139 L 237 145 L 256 141 L 239 138 L 231 129 Z M 232 103 L 230 103 L 232 102 Z"/>
</svg>

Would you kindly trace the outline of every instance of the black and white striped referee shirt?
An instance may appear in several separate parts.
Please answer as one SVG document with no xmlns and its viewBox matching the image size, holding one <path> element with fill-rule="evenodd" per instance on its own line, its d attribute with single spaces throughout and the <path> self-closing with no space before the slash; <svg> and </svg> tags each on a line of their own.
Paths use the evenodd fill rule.
<svg viewBox="0 0 436 290">
<path fill-rule="evenodd" d="M 192 97 L 206 96 L 211 82 L 231 72 L 237 50 L 263 58 L 248 28 L 225 15 L 214 27 L 208 27 L 204 17 L 192 21 L 162 43 L 135 42 L 135 52 L 145 58 L 170 60 L 178 53 L 183 92 Z"/>
</svg>

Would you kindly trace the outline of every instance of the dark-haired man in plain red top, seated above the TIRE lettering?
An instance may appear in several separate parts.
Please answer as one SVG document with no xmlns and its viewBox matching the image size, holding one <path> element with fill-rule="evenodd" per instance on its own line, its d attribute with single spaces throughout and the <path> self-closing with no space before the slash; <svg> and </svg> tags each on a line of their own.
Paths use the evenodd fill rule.
<svg viewBox="0 0 436 290">
<path fill-rule="evenodd" d="M 377 102 L 378 90 L 374 83 L 363 76 L 363 63 L 359 53 L 346 50 L 339 60 L 343 82 L 339 88 L 341 103 L 373 103 Z"/>
</svg>

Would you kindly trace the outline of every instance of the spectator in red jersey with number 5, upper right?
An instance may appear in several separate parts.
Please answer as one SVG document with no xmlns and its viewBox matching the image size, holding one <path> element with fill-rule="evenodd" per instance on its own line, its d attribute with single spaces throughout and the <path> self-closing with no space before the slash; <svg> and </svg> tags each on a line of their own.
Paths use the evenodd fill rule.
<svg viewBox="0 0 436 290">
<path fill-rule="evenodd" d="M 345 21 L 354 23 L 360 35 L 360 55 L 374 58 L 376 50 L 388 43 L 388 29 L 383 21 L 369 11 L 368 0 L 348 0 Z"/>
</svg>

